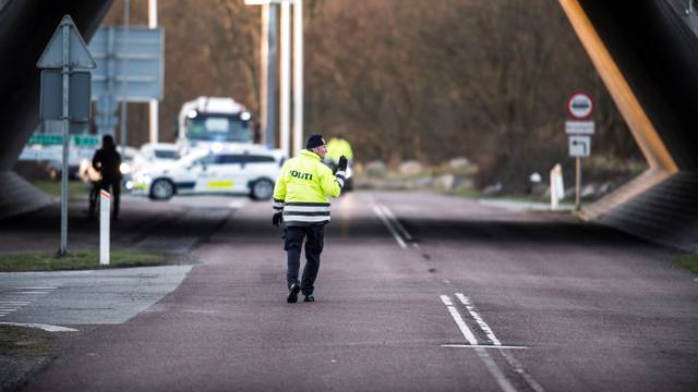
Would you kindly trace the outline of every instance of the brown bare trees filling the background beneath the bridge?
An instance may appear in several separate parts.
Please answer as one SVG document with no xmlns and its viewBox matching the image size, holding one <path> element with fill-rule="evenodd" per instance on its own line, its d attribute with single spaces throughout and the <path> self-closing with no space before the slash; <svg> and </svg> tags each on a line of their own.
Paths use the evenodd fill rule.
<svg viewBox="0 0 698 392">
<path fill-rule="evenodd" d="M 144 23 L 146 0 L 132 0 Z M 122 1 L 108 20 L 119 23 Z M 559 7 L 550 0 L 306 0 L 305 133 L 344 132 L 359 160 L 467 156 L 482 184 L 517 189 L 566 159 L 564 102 L 597 98 L 595 150 L 637 148 Z M 258 9 L 160 0 L 163 138 L 183 101 L 231 96 L 258 113 Z M 141 21 L 141 22 L 139 22 Z M 145 134 L 146 114 L 131 128 Z M 134 123 L 135 122 L 135 123 Z M 130 138 L 137 139 L 137 138 Z"/>
</svg>

